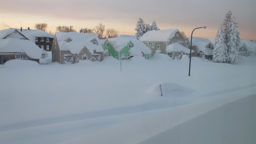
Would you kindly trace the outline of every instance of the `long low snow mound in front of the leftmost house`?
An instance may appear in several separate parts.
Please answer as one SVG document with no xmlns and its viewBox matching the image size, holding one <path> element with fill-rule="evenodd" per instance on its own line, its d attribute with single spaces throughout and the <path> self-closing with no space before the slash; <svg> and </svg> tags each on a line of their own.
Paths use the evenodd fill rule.
<svg viewBox="0 0 256 144">
<path fill-rule="evenodd" d="M 10 60 L 5 62 L 4 67 L 38 67 L 39 63 L 29 60 Z"/>
</svg>

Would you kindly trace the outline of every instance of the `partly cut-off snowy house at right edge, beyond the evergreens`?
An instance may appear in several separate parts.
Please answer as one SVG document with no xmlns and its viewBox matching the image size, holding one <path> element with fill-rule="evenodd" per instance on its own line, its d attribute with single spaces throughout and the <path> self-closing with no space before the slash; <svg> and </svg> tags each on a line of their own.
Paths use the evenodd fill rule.
<svg viewBox="0 0 256 144">
<path fill-rule="evenodd" d="M 256 56 L 256 43 L 252 41 L 241 41 L 239 48 L 239 55 L 245 57 Z"/>
</svg>

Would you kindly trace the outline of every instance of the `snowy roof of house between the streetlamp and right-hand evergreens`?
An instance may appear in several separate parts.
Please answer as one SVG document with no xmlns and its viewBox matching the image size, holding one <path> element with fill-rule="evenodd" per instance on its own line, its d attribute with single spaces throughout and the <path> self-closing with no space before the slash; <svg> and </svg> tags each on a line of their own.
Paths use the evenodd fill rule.
<svg viewBox="0 0 256 144">
<path fill-rule="evenodd" d="M 188 37 L 187 39 L 188 41 L 191 41 L 191 37 Z M 201 37 L 192 38 L 192 46 L 197 46 L 199 51 L 202 51 L 203 54 L 205 55 L 213 55 L 213 50 L 207 47 L 210 43 L 213 45 L 212 41 L 210 41 L 208 38 L 201 38 Z"/>
</svg>

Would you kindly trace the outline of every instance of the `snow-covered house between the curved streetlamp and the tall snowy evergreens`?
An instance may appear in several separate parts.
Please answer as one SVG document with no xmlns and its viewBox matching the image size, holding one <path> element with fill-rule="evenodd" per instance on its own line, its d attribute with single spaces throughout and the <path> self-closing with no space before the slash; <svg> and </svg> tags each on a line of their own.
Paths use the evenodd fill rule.
<svg viewBox="0 0 256 144">
<path fill-rule="evenodd" d="M 191 37 L 187 38 L 190 42 Z M 208 38 L 193 37 L 192 38 L 192 50 L 194 50 L 193 57 L 204 57 L 206 59 L 213 58 L 214 44 Z"/>
</svg>

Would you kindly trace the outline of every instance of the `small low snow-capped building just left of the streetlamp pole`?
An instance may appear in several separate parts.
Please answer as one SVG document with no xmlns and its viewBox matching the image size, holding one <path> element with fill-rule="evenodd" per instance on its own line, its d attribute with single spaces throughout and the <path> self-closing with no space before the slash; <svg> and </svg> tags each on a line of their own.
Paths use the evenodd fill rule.
<svg viewBox="0 0 256 144">
<path fill-rule="evenodd" d="M 194 51 L 192 50 L 191 52 L 193 53 Z M 190 49 L 176 42 L 166 47 L 166 54 L 173 59 L 179 59 L 179 57 L 182 55 L 187 55 L 188 57 L 190 57 Z"/>
</svg>

